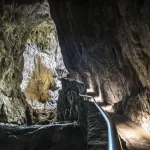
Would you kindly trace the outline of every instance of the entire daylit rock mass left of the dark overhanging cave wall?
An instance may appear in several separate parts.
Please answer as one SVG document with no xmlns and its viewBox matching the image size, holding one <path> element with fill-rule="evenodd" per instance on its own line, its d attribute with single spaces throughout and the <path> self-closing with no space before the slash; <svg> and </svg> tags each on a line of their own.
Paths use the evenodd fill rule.
<svg viewBox="0 0 150 150">
<path fill-rule="evenodd" d="M 0 122 L 24 124 L 50 119 L 61 89 L 60 78 L 68 72 L 49 4 L 44 1 L 2 6 Z M 53 101 L 53 105 L 37 103 L 35 107 L 33 100 Z M 32 110 L 33 107 L 36 109 Z M 32 121 L 35 118 L 36 121 Z"/>
</svg>

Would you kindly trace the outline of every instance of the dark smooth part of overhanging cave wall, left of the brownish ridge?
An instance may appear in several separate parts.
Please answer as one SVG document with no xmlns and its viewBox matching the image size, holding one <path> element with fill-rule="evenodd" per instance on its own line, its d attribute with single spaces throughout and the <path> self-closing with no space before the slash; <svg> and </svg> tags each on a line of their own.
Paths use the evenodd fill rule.
<svg viewBox="0 0 150 150">
<path fill-rule="evenodd" d="M 123 19 L 115 1 L 52 0 L 50 6 L 68 70 L 98 76 L 109 103 L 140 91 L 139 76 L 118 38 Z"/>
</svg>

